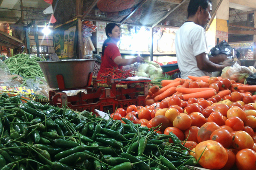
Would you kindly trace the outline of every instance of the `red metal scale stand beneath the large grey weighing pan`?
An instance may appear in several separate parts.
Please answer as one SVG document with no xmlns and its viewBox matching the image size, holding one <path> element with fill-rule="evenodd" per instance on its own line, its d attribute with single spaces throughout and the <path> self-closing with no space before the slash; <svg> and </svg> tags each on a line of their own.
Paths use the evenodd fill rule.
<svg viewBox="0 0 256 170">
<path fill-rule="evenodd" d="M 93 87 L 89 87 L 92 81 L 92 74 L 89 74 L 89 81 L 86 87 L 67 89 L 64 85 L 62 75 L 57 75 L 59 90 L 49 91 L 50 104 L 58 107 L 67 105 L 68 108 L 77 111 L 92 111 L 95 109 L 113 113 L 116 108 L 127 108 L 129 105 L 145 106 L 145 97 L 148 95 L 148 82 L 151 80 L 126 80 L 110 79 L 109 87 L 97 87 L 97 80 L 93 80 Z M 127 85 L 127 88 L 118 87 L 117 84 Z M 74 96 L 67 96 L 63 91 L 86 89 L 87 94 L 79 92 Z"/>
</svg>

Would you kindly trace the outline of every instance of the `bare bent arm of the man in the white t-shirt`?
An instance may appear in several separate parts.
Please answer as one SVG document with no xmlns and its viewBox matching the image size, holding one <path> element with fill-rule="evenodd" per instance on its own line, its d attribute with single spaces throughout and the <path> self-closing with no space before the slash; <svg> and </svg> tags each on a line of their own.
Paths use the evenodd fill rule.
<svg viewBox="0 0 256 170">
<path fill-rule="evenodd" d="M 223 64 L 215 64 L 211 62 L 209 59 L 206 57 L 206 53 L 199 54 L 195 56 L 197 66 L 201 71 L 206 71 L 206 72 L 212 72 L 212 71 L 221 71 L 223 68 L 230 66 L 231 59 L 225 60 Z"/>
</svg>

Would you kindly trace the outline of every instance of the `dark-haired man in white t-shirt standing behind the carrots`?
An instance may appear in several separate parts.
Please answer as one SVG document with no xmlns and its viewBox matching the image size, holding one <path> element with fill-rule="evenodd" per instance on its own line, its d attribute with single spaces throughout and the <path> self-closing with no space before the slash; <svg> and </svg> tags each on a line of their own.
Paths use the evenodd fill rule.
<svg viewBox="0 0 256 170">
<path fill-rule="evenodd" d="M 190 0 L 188 20 L 178 29 L 175 37 L 177 62 L 181 77 L 210 76 L 213 71 L 221 71 L 231 65 L 225 55 L 207 56 L 207 40 L 204 26 L 211 19 L 211 0 Z"/>
</svg>

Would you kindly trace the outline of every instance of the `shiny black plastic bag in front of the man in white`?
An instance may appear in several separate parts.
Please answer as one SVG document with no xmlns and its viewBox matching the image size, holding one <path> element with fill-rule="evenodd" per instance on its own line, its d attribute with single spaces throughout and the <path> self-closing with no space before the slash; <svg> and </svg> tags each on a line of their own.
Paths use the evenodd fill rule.
<svg viewBox="0 0 256 170">
<path fill-rule="evenodd" d="M 228 56 L 232 55 L 233 48 L 230 47 L 230 45 L 227 43 L 226 40 L 221 41 L 218 43 L 219 39 L 217 38 L 217 45 L 213 47 L 209 54 L 212 56 L 218 55 L 218 54 L 226 54 Z"/>
</svg>

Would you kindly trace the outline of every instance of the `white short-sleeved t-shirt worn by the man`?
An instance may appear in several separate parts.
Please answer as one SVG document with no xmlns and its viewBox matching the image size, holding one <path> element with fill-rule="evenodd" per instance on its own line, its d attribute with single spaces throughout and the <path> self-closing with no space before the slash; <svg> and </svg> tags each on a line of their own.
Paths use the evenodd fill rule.
<svg viewBox="0 0 256 170">
<path fill-rule="evenodd" d="M 195 59 L 195 56 L 208 51 L 203 27 L 193 22 L 184 23 L 177 31 L 175 47 L 181 78 L 188 79 L 188 76 L 201 77 L 211 75 L 208 72 L 199 70 Z"/>
</svg>

